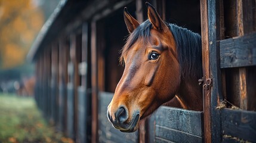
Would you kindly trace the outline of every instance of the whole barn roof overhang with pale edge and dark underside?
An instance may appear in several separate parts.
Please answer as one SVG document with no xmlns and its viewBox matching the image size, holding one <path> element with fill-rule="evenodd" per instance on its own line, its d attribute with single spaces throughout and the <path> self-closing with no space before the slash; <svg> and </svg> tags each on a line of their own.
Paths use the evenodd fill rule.
<svg viewBox="0 0 256 143">
<path fill-rule="evenodd" d="M 112 2 L 110 2 L 112 1 Z M 27 54 L 27 60 L 36 61 L 42 49 L 61 32 L 70 32 L 85 20 L 105 17 L 133 0 L 61 0 L 46 21 Z"/>
</svg>

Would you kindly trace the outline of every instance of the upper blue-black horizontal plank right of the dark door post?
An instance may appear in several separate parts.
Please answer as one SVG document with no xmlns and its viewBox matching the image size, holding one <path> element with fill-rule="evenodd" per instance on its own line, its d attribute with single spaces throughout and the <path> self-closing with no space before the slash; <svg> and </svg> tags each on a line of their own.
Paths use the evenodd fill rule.
<svg viewBox="0 0 256 143">
<path fill-rule="evenodd" d="M 256 33 L 220 41 L 221 68 L 256 65 Z"/>
</svg>

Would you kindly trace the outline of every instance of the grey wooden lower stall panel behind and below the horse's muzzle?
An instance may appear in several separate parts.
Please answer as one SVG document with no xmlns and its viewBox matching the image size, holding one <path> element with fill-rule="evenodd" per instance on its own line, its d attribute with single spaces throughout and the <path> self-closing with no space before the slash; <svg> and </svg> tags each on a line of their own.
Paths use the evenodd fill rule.
<svg viewBox="0 0 256 143">
<path fill-rule="evenodd" d="M 127 134 L 112 127 L 107 119 L 107 106 L 112 100 L 113 93 L 99 92 L 98 102 L 98 139 L 99 142 L 138 142 L 138 131 Z"/>
</svg>

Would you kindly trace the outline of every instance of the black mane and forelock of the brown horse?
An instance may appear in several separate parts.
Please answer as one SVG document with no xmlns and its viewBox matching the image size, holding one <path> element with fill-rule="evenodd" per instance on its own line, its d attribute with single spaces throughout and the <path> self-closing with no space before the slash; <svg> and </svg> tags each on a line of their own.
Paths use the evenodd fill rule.
<svg viewBox="0 0 256 143">
<path fill-rule="evenodd" d="M 201 36 L 198 33 L 194 33 L 183 27 L 179 27 L 175 24 L 166 23 L 169 30 L 174 36 L 176 44 L 178 61 L 180 63 L 181 77 L 193 78 L 202 76 L 202 42 Z M 131 33 L 127 42 L 122 48 L 122 54 L 120 61 L 124 61 L 124 55 L 128 49 L 138 40 L 143 38 L 144 42 L 148 42 L 150 38 L 150 29 L 152 29 L 152 23 L 149 20 L 144 21 Z"/>
</svg>

